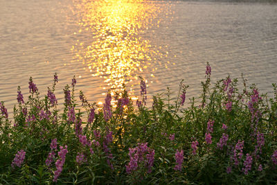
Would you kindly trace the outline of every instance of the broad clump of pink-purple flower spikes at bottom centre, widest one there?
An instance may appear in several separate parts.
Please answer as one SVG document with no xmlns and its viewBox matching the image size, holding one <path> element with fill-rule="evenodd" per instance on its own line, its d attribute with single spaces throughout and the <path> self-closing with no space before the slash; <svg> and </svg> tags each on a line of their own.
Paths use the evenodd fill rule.
<svg viewBox="0 0 277 185">
<path fill-rule="evenodd" d="M 148 148 L 148 143 L 139 143 L 136 148 L 129 148 L 129 164 L 126 165 L 126 172 L 128 174 L 139 168 L 139 164 L 144 164 L 147 172 L 151 173 L 154 164 L 155 151 Z"/>
</svg>

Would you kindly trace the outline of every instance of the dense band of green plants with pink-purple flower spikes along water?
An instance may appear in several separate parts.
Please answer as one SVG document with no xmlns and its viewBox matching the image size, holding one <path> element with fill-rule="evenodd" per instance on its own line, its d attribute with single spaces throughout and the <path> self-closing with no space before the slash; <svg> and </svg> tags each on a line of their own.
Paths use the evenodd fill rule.
<svg viewBox="0 0 277 185">
<path fill-rule="evenodd" d="M 30 78 L 12 121 L 0 103 L 0 184 L 276 184 L 277 85 L 268 98 L 243 76 L 241 91 L 229 76 L 212 87 L 208 63 L 203 75 L 198 98 L 182 80 L 176 100 L 168 91 L 149 107 L 143 78 L 141 100 L 124 90 L 103 106 L 77 100 L 73 78 L 63 109 L 57 73 L 45 96 Z"/>
</svg>

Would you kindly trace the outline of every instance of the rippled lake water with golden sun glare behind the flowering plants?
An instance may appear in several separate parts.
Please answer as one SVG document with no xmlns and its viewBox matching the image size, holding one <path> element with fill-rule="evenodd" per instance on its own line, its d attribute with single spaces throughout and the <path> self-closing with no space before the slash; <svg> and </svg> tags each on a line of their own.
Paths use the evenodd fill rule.
<svg viewBox="0 0 277 185">
<path fill-rule="evenodd" d="M 55 72 L 60 105 L 74 75 L 77 91 L 99 105 L 123 83 L 139 97 L 139 76 L 147 81 L 148 97 L 167 87 L 176 92 L 181 79 L 190 85 L 187 97 L 199 96 L 206 62 L 212 82 L 244 73 L 249 85 L 271 92 L 277 82 L 277 3 L 0 2 L 0 101 L 8 112 L 17 103 L 17 86 L 27 98 L 32 76 L 44 96 Z"/>
</svg>

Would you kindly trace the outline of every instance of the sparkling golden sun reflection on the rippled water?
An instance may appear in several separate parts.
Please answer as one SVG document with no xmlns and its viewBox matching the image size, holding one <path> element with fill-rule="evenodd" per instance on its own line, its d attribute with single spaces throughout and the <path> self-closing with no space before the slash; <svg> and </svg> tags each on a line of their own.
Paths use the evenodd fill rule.
<svg viewBox="0 0 277 185">
<path fill-rule="evenodd" d="M 90 35 L 72 46 L 73 60 L 82 63 L 91 76 L 102 78 L 103 89 L 118 91 L 131 82 L 132 92 L 143 73 L 154 78 L 153 64 L 161 53 L 154 51 L 145 31 L 159 27 L 157 15 L 163 4 L 143 0 L 73 0 L 73 4 L 80 27 L 75 34 Z"/>
</svg>

